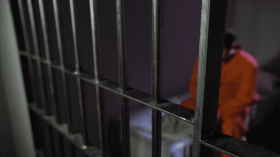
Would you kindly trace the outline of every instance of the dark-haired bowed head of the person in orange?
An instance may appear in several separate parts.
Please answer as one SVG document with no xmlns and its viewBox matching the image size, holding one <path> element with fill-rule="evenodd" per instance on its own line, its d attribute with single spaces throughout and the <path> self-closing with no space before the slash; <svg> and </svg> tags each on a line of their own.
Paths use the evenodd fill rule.
<svg viewBox="0 0 280 157">
<path fill-rule="evenodd" d="M 232 29 L 227 29 L 225 31 L 225 41 L 224 41 L 224 51 L 223 51 L 223 60 L 227 59 L 229 57 L 229 51 L 234 43 L 236 38 L 236 33 Z"/>
</svg>

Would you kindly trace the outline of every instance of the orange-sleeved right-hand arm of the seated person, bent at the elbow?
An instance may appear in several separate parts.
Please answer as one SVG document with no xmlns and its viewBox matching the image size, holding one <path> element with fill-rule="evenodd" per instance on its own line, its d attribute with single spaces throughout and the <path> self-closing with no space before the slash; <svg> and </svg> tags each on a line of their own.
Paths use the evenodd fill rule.
<svg viewBox="0 0 280 157">
<path fill-rule="evenodd" d="M 234 99 L 231 99 L 227 104 L 223 104 L 218 108 L 219 115 L 227 117 L 241 112 L 247 106 L 251 105 L 257 83 L 257 74 L 258 67 L 247 67 L 243 70 L 243 77 L 238 92 L 234 96 Z"/>
</svg>

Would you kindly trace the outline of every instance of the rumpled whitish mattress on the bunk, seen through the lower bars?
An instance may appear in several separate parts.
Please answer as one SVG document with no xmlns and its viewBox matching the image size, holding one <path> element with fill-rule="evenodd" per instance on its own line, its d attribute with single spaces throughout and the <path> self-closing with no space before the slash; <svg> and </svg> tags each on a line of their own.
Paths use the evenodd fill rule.
<svg viewBox="0 0 280 157">
<path fill-rule="evenodd" d="M 190 96 L 178 94 L 168 100 L 180 104 Z M 162 157 L 188 157 L 192 142 L 193 126 L 162 113 Z M 143 108 L 130 113 L 130 143 L 133 157 L 152 155 L 152 110 Z"/>
</svg>

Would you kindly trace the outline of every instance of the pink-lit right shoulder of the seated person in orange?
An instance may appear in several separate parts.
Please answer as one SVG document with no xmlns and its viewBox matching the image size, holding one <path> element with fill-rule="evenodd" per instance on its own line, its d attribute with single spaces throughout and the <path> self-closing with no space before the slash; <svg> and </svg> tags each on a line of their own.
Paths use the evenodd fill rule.
<svg viewBox="0 0 280 157">
<path fill-rule="evenodd" d="M 241 64 L 258 69 L 258 61 L 255 59 L 255 57 L 253 57 L 250 53 L 244 51 L 243 49 L 239 51 L 239 58 L 242 62 Z"/>
</svg>

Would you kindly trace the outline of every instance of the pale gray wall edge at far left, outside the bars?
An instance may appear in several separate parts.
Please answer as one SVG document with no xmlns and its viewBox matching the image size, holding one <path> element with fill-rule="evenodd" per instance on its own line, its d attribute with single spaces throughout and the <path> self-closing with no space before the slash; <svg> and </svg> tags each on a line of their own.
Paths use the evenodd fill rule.
<svg viewBox="0 0 280 157">
<path fill-rule="evenodd" d="M 8 0 L 0 1 L 0 156 L 35 157 Z"/>
</svg>

